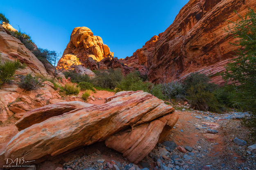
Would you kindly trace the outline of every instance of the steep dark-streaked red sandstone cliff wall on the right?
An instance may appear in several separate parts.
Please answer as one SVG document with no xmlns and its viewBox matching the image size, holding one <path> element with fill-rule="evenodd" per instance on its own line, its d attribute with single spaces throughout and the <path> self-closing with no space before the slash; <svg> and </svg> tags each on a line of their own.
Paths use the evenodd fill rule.
<svg viewBox="0 0 256 170">
<path fill-rule="evenodd" d="M 164 76 L 170 80 L 177 70 L 180 80 L 191 72 L 222 72 L 238 48 L 229 44 L 234 40 L 224 31 L 227 20 L 239 19 L 234 10 L 245 16 L 248 7 L 256 9 L 256 0 L 190 0 L 150 50 L 145 45 L 136 51 L 138 60 L 147 59 L 150 81 L 159 83 Z M 212 80 L 224 83 L 220 76 Z"/>
</svg>

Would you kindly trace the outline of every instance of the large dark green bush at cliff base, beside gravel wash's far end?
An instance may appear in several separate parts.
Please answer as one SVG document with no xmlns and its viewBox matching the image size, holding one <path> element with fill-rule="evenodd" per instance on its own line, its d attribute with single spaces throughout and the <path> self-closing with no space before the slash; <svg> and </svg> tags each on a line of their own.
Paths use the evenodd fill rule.
<svg viewBox="0 0 256 170">
<path fill-rule="evenodd" d="M 219 111 L 220 105 L 213 93 L 217 89 L 217 85 L 210 83 L 210 78 L 205 74 L 190 74 L 184 80 L 184 87 L 191 107 L 203 111 Z"/>
</svg>

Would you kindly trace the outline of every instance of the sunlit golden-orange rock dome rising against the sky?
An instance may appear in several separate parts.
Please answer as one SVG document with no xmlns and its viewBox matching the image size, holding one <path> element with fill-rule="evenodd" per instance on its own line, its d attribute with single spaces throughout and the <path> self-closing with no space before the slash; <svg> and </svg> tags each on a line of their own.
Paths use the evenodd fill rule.
<svg viewBox="0 0 256 170">
<path fill-rule="evenodd" d="M 69 69 L 72 65 L 81 65 L 91 57 L 100 61 L 103 58 L 113 58 L 113 52 L 107 45 L 103 44 L 102 38 L 93 36 L 91 29 L 87 27 L 76 27 L 70 36 L 63 56 L 58 62 L 58 69 Z"/>
</svg>

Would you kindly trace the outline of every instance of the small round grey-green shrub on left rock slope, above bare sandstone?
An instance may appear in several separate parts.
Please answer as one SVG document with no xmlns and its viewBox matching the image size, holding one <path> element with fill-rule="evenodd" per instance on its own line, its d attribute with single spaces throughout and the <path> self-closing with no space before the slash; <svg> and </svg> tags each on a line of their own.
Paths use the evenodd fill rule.
<svg viewBox="0 0 256 170">
<path fill-rule="evenodd" d="M 27 74 L 26 76 L 22 76 L 20 82 L 18 83 L 20 88 L 23 88 L 27 91 L 37 89 L 42 87 L 42 81 L 33 77 L 31 74 Z"/>
</svg>

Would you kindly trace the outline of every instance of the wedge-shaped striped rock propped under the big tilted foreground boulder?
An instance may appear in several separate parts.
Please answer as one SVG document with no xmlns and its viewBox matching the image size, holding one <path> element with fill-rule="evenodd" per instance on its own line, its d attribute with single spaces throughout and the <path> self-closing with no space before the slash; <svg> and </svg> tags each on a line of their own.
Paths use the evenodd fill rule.
<svg viewBox="0 0 256 170">
<path fill-rule="evenodd" d="M 121 152 L 131 162 L 138 163 L 162 142 L 178 121 L 177 113 L 168 114 L 149 123 L 143 123 L 131 130 L 114 134 L 106 139 L 105 144 Z"/>
</svg>

